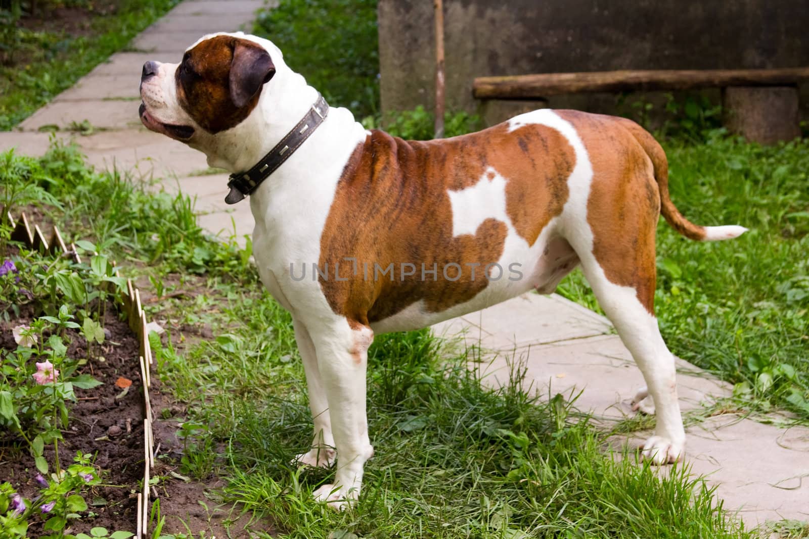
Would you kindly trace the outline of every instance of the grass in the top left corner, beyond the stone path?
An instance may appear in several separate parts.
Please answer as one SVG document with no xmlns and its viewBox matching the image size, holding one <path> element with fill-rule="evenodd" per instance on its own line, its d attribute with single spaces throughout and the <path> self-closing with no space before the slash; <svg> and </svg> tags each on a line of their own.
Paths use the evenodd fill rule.
<svg viewBox="0 0 809 539">
<path fill-rule="evenodd" d="M 13 128 L 73 86 L 179 1 L 122 0 L 113 15 L 93 17 L 87 36 L 30 32 L 14 20 L 0 21 L 0 49 L 26 58 L 0 65 L 0 130 Z"/>
</svg>

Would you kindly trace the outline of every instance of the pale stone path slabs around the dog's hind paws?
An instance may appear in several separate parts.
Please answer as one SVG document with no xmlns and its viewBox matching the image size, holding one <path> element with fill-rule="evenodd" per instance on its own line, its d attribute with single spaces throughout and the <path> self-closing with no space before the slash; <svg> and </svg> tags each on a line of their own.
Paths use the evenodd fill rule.
<svg viewBox="0 0 809 539">
<path fill-rule="evenodd" d="M 629 351 L 607 318 L 563 297 L 528 293 L 478 313 L 434 326 L 437 335 L 460 339 L 480 352 L 483 380 L 509 381 L 512 364 L 526 368 L 523 384 L 540 394 L 581 392 L 575 406 L 604 423 L 636 412 L 635 392 L 645 385 Z M 677 360 L 680 405 L 687 420 L 703 416 L 703 402 L 729 396 L 732 388 L 684 360 Z M 789 423 L 786 417 L 768 418 Z M 779 428 L 735 413 L 707 417 L 686 428 L 686 461 L 705 474 L 726 509 L 751 527 L 765 520 L 809 520 L 809 428 Z M 616 446 L 639 447 L 649 432 Z M 667 468 L 661 469 L 663 473 Z"/>
</svg>

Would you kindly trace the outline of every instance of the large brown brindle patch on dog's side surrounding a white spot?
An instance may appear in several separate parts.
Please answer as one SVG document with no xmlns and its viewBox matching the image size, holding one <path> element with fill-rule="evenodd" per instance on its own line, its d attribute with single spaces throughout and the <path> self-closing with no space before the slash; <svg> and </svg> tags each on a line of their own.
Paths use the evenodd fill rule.
<svg viewBox="0 0 809 539">
<path fill-rule="evenodd" d="M 500 124 L 439 141 L 403 141 L 373 131 L 345 166 L 320 240 L 320 267 L 332 272 L 337 263 L 341 279 L 347 278 L 320 276 L 332 310 L 367 326 L 416 301 L 437 313 L 476 297 L 489 284 L 485 265 L 502 255 L 507 226 L 490 218 L 475 234 L 453 237 L 448 191 L 490 181 L 493 175 L 485 173 L 492 168 L 506 179 L 510 221 L 533 245 L 561 213 L 574 161 L 568 141 L 543 125 L 509 133 Z M 356 259 L 356 272 L 348 257 Z M 391 263 L 394 280 L 381 274 Z M 415 274 L 403 280 L 401 263 L 413 263 Z M 451 263 L 461 266 L 458 280 L 450 280 L 457 274 L 452 266 L 449 279 L 443 276 Z M 467 263 L 481 264 L 474 280 Z M 429 273 L 434 267 L 435 277 Z"/>
</svg>

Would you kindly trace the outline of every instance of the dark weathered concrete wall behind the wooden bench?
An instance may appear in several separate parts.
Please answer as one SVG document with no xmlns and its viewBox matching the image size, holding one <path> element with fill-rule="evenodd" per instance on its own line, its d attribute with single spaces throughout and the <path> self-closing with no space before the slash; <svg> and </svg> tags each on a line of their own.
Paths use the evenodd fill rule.
<svg viewBox="0 0 809 539">
<path fill-rule="evenodd" d="M 483 112 L 489 123 L 545 103 L 496 102 L 481 110 L 472 99 L 478 76 L 809 64 L 807 0 L 444 0 L 444 10 L 447 110 Z M 383 112 L 419 104 L 432 110 L 433 2 L 379 0 L 379 63 Z M 718 100 L 718 91 L 709 95 Z M 616 112 L 612 94 L 547 104 Z"/>
</svg>

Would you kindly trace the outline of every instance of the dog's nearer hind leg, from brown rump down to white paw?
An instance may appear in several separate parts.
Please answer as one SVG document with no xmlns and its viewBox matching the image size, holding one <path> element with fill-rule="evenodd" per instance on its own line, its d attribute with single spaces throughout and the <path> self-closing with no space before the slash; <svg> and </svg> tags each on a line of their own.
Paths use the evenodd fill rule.
<svg viewBox="0 0 809 539">
<path fill-rule="evenodd" d="M 641 369 L 654 400 L 657 425 L 643 457 L 657 464 L 680 458 L 685 431 L 677 400 L 674 356 L 654 318 L 654 235 L 661 192 L 654 163 L 625 128 L 625 120 L 563 112 L 559 123 L 576 152 L 562 236 L 604 312 Z M 661 150 L 662 151 L 662 150 Z"/>
</svg>

